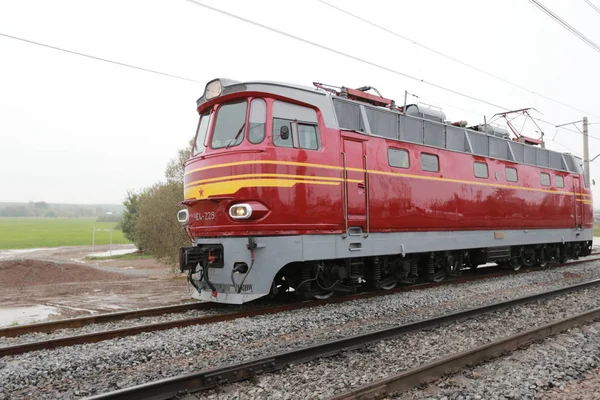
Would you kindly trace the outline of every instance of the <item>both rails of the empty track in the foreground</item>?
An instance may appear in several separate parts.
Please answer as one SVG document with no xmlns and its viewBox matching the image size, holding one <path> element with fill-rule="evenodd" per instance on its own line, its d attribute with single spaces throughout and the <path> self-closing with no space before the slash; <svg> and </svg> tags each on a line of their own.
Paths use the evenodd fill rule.
<svg viewBox="0 0 600 400">
<path fill-rule="evenodd" d="M 484 307 L 472 308 L 466 311 L 447 314 L 410 324 L 398 325 L 362 335 L 320 343 L 309 347 L 295 349 L 289 352 L 254 359 L 240 364 L 228 365 L 220 368 L 214 368 L 197 373 L 176 376 L 143 385 L 133 386 L 110 393 L 96 395 L 90 399 L 169 399 L 180 395 L 181 393 L 208 390 L 215 386 L 222 386 L 230 382 L 249 379 L 262 373 L 278 371 L 291 364 L 304 363 L 317 358 L 330 357 L 343 351 L 359 349 L 365 345 L 384 339 L 395 338 L 399 335 L 409 332 L 422 331 L 425 329 L 449 324 L 451 322 L 461 321 L 467 318 L 487 314 L 493 311 L 511 308 L 521 304 L 527 304 L 537 300 L 548 299 L 557 295 L 598 286 L 600 286 L 600 279 Z M 451 373 L 453 371 L 455 372 L 467 364 L 480 362 L 490 356 L 497 356 L 504 351 L 516 349 L 519 346 L 529 343 L 533 340 L 538 340 L 574 325 L 598 318 L 600 318 L 600 308 L 590 310 L 583 314 L 567 318 L 556 323 L 532 329 L 530 331 L 478 347 L 474 350 L 427 364 L 425 366 L 421 366 L 414 370 L 389 377 L 383 381 L 378 381 L 374 384 L 364 386 L 352 392 L 342 394 L 335 397 L 335 399 L 372 399 L 388 393 L 406 390 L 407 388 L 414 387 L 416 384 L 433 380 L 440 374 Z"/>
</svg>

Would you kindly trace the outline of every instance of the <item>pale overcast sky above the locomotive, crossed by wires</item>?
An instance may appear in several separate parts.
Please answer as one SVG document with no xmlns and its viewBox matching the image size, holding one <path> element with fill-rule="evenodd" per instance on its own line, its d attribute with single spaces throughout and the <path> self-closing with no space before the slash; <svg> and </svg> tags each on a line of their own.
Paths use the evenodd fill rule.
<svg viewBox="0 0 600 400">
<path fill-rule="evenodd" d="M 317 0 L 198 0 L 276 29 L 556 124 L 583 114 L 499 82 Z M 600 116 L 600 53 L 527 0 L 327 0 L 534 92 Z M 600 0 L 593 0 L 600 7 Z M 600 44 L 584 0 L 542 0 Z M 204 82 L 275 80 L 404 90 L 449 120 L 501 110 L 279 36 L 185 0 L 2 0 L 0 33 L 198 80 L 194 83 L 0 37 L 0 201 L 120 203 L 162 179 L 197 124 Z M 590 122 L 600 118 L 587 114 Z M 518 126 L 521 126 L 522 120 Z M 547 147 L 582 153 L 581 135 L 540 125 Z M 536 129 L 528 122 L 526 134 Z M 574 128 L 573 128 L 574 129 Z M 527 132 L 528 131 L 528 132 Z M 600 137 L 600 124 L 590 126 Z M 600 140 L 590 140 L 590 156 Z M 600 158 L 599 158 L 600 160 Z M 600 164 L 592 163 L 600 194 Z"/>
</svg>

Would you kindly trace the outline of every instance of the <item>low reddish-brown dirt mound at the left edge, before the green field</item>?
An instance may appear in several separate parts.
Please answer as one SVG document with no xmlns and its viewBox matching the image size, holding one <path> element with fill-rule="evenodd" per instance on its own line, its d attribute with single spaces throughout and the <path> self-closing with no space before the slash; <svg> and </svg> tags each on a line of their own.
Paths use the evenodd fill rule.
<svg viewBox="0 0 600 400">
<path fill-rule="evenodd" d="M 131 277 L 78 264 L 39 260 L 0 261 L 0 287 L 38 286 L 89 281 L 121 281 Z"/>
</svg>

